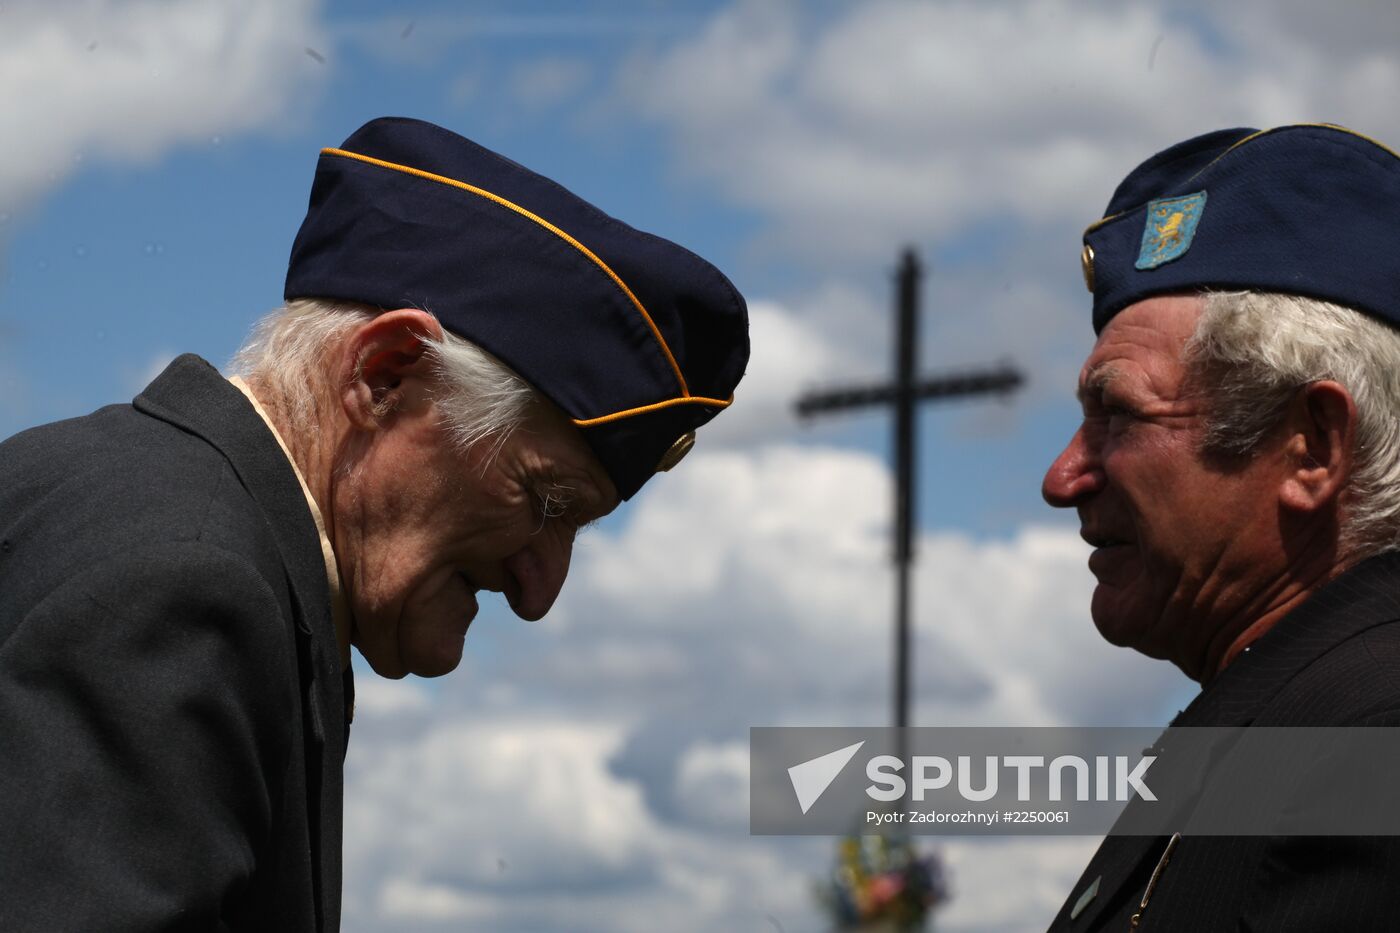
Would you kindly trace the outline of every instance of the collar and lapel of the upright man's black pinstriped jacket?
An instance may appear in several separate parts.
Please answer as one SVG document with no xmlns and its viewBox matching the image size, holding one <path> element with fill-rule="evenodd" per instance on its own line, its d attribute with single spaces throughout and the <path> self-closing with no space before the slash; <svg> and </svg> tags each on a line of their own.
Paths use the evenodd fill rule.
<svg viewBox="0 0 1400 933">
<path fill-rule="evenodd" d="M 1364 560 L 1260 636 L 1172 720 L 1172 726 L 1249 726 L 1305 667 L 1347 639 L 1396 618 L 1400 618 L 1400 555 Z M 1051 929 L 1098 929 L 1106 911 L 1119 912 L 1126 885 L 1133 888 L 1130 897 L 1141 898 L 1141 888 L 1166 843 L 1166 836 L 1109 835 L 1075 883 Z M 1070 919 L 1095 880 L 1098 891 Z"/>
</svg>

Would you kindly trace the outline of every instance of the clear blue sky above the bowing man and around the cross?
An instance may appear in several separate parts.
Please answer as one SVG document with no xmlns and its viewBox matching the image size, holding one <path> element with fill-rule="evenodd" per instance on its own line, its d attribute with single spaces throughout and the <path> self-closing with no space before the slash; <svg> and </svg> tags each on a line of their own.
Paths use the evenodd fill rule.
<svg viewBox="0 0 1400 933">
<path fill-rule="evenodd" d="M 234 129 L 221 130 L 210 120 L 139 158 L 105 156 L 106 140 L 78 136 L 59 154 L 57 168 L 50 167 L 53 181 L 0 191 L 10 195 L 0 200 L 7 247 L 0 378 L 11 395 L 0 408 L 0 433 L 129 398 L 179 352 L 227 360 L 252 321 L 280 298 L 316 150 L 385 113 L 456 129 L 633 226 L 685 242 L 725 269 L 748 296 L 783 297 L 820 286 L 808 256 L 763 242 L 763 212 L 678 167 L 665 127 L 630 108 L 617 90 L 629 63 L 703 29 L 715 8 L 720 4 L 605 4 L 599 13 L 571 4 L 476 4 L 468 15 L 461 4 L 424 4 L 412 13 L 336 4 L 319 21 L 288 24 L 287 60 L 262 90 L 279 95 L 279 112 L 260 125 L 238 129 L 235 118 Z M 113 22 L 119 10 L 115 4 L 74 28 L 74 35 L 92 36 L 81 43 L 80 67 L 102 67 L 98 59 L 129 52 L 113 48 L 118 39 L 104 45 L 111 32 L 120 32 Z M 140 90 L 158 109 L 164 85 L 179 80 L 179 70 L 168 69 Z M 140 109 L 140 98 L 120 106 Z M 108 132 L 139 136 L 146 123 L 118 120 Z M 745 140 L 713 144 L 742 147 Z M 843 263 L 844 280 L 861 293 L 846 318 L 864 332 L 868 350 L 846 378 L 888 375 L 889 275 L 899 244 L 916 245 L 934 276 L 977 270 L 1008 248 L 1008 227 L 994 214 L 956 237 L 920 235 L 916 227 L 907 238 L 890 237 L 885 249 Z M 1074 275 L 1068 263 L 1063 272 Z M 937 294 L 928 304 L 930 335 L 944 315 L 977 312 L 942 307 Z M 45 326 L 50 321 L 64 322 L 67 331 L 70 366 L 59 371 L 42 349 L 52 339 Z M 972 359 L 942 352 L 932 339 L 925 343 L 928 371 L 1014 359 L 994 340 Z M 794 384 L 792 394 L 841 381 L 813 378 Z M 1050 395 L 1044 384 L 1033 382 L 1032 389 Z M 930 524 L 1005 534 L 1040 509 L 1021 469 L 988 469 L 1030 457 L 1021 452 L 1021 409 L 993 403 L 988 420 L 986 402 L 958 408 L 930 409 L 921 419 L 925 457 L 942 464 L 941 481 L 966 492 L 938 496 L 930 488 L 923 514 Z M 1057 427 L 1065 417 L 1060 408 Z M 843 416 L 798 438 L 882 451 L 886 420 L 881 413 Z M 949 448 L 958 454 L 949 457 Z M 983 503 L 990 500 L 1001 504 L 988 510 Z"/>
</svg>

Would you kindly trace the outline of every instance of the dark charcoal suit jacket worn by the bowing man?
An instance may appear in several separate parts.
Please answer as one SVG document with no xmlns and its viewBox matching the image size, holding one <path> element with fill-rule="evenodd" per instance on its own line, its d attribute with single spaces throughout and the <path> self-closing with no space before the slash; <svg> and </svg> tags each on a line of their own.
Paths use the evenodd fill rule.
<svg viewBox="0 0 1400 933">
<path fill-rule="evenodd" d="M 0 444 L 0 929 L 337 929 L 339 668 L 295 474 L 199 357 Z"/>
</svg>

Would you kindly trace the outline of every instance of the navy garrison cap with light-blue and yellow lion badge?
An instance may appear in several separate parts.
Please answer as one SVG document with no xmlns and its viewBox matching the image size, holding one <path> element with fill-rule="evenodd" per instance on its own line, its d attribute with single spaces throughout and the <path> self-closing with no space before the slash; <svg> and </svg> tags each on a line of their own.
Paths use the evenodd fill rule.
<svg viewBox="0 0 1400 933">
<path fill-rule="evenodd" d="M 1253 289 L 1400 325 L 1400 156 L 1341 126 L 1228 129 L 1158 153 L 1084 233 L 1099 332 L 1154 294 Z"/>
</svg>

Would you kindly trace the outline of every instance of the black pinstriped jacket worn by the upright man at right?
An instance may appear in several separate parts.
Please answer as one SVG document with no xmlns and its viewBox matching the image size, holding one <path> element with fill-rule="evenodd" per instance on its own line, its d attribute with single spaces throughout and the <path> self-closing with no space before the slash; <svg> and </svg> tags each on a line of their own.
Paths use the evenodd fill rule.
<svg viewBox="0 0 1400 933">
<path fill-rule="evenodd" d="M 1372 558 L 1319 590 L 1172 724 L 1400 726 L 1400 555 Z M 1166 838 L 1106 838 L 1050 929 L 1128 930 L 1166 846 Z M 1071 920 L 1095 878 L 1098 895 Z M 1400 839 L 1183 836 L 1137 929 L 1400 929 Z"/>
</svg>

